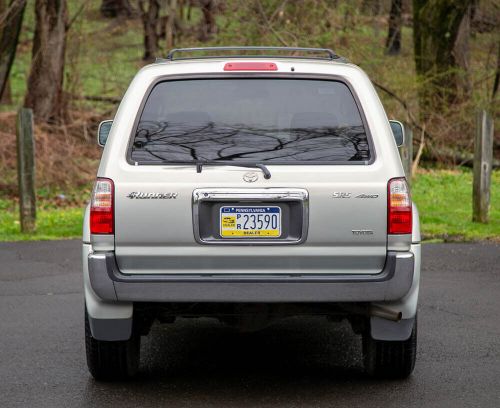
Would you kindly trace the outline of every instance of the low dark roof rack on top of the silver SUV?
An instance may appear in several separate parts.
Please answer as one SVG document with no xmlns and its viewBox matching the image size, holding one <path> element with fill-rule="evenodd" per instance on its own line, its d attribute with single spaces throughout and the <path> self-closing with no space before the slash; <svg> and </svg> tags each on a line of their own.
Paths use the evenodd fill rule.
<svg viewBox="0 0 500 408">
<path fill-rule="evenodd" d="M 181 53 L 196 53 L 196 52 L 225 52 L 225 51 L 270 51 L 270 52 L 301 52 L 310 54 L 324 54 L 324 56 L 297 56 L 297 55 L 275 55 L 275 54 L 260 54 L 260 55 L 234 55 L 234 54 L 221 54 L 221 55 L 203 55 L 203 56 L 190 56 L 190 57 L 177 57 L 175 54 Z M 321 59 L 321 60 L 335 60 L 341 59 L 339 55 L 335 54 L 329 48 L 303 48 L 303 47 L 198 47 L 198 48 L 174 48 L 167 55 L 168 61 L 184 60 L 184 59 L 204 59 L 204 58 L 300 58 L 300 59 Z"/>
</svg>

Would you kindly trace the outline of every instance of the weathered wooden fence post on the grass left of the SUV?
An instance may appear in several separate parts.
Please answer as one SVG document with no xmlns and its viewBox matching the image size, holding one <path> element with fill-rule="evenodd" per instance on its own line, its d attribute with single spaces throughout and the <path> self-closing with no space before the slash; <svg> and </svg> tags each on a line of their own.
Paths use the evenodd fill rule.
<svg viewBox="0 0 500 408">
<path fill-rule="evenodd" d="M 36 222 L 35 141 L 33 111 L 21 108 L 17 115 L 17 178 L 21 232 L 33 232 Z"/>
</svg>

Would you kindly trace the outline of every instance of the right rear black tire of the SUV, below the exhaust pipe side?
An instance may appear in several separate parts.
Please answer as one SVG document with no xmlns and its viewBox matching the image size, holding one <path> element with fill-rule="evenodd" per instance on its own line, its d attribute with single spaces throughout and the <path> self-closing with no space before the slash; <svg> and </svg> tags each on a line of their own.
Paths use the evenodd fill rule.
<svg viewBox="0 0 500 408">
<path fill-rule="evenodd" d="M 408 340 L 374 340 L 366 333 L 363 336 L 363 355 L 369 375 L 375 378 L 407 378 L 415 368 L 417 357 L 417 318 Z"/>
</svg>

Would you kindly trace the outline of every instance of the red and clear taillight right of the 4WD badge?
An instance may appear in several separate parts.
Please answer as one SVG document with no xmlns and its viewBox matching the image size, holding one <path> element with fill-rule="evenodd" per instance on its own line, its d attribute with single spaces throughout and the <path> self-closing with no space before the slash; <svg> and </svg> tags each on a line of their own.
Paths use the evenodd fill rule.
<svg viewBox="0 0 500 408">
<path fill-rule="evenodd" d="M 411 234 L 411 197 L 405 178 L 389 180 L 387 209 L 387 233 Z"/>
</svg>

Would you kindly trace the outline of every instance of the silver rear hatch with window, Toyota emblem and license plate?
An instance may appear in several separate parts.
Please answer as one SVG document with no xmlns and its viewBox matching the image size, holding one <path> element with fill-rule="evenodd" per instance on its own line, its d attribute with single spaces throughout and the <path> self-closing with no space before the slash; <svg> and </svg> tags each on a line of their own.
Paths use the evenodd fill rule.
<svg viewBox="0 0 500 408">
<path fill-rule="evenodd" d="M 342 81 L 159 82 L 127 154 L 114 179 L 123 273 L 360 274 L 384 266 L 387 180 Z"/>
</svg>

